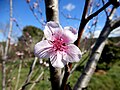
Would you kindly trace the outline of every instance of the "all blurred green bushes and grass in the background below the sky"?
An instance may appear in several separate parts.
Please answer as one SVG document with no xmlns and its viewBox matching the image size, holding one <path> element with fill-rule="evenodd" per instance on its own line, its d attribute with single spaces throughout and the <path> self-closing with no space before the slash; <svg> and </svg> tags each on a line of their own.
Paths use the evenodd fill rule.
<svg viewBox="0 0 120 90">
<path fill-rule="evenodd" d="M 17 90 L 24 84 L 32 62 L 34 61 L 33 46 L 40 41 L 43 37 L 43 31 L 33 26 L 27 26 L 23 30 L 23 36 L 19 38 L 18 45 L 9 49 L 9 61 L 6 63 L 6 89 L 14 90 L 17 82 L 18 70 L 20 60 L 22 60 L 22 68 L 20 73 L 20 80 Z M 30 41 L 32 39 L 32 42 Z M 87 43 L 81 43 L 84 49 L 90 48 L 90 45 L 95 42 L 94 40 L 88 40 Z M 109 38 L 108 44 L 105 46 L 101 58 L 99 60 L 97 69 L 88 85 L 86 90 L 120 90 L 120 45 L 118 43 L 120 37 Z M 27 44 L 26 44 L 27 43 Z M 86 46 L 84 45 L 86 44 Z M 5 46 L 5 43 L 3 43 Z M 24 48 L 23 48 L 24 47 Z M 16 51 L 23 52 L 23 57 L 17 56 Z M 32 55 L 31 55 L 32 54 Z M 78 63 L 78 67 L 70 76 L 68 83 L 73 88 L 77 79 L 79 78 L 85 63 L 89 58 L 89 53 L 86 53 L 82 60 Z M 44 59 L 46 61 L 46 59 Z M 75 64 L 74 64 L 75 65 Z M 74 66 L 73 65 L 73 66 Z M 0 63 L 0 90 L 2 90 L 2 66 Z M 33 90 L 51 90 L 51 84 L 49 81 L 49 68 L 41 65 L 37 61 L 34 68 L 34 72 L 30 79 L 31 84 L 27 85 L 25 90 L 33 85 L 32 83 L 37 77 L 44 72 L 39 82 L 36 82 Z"/>
</svg>

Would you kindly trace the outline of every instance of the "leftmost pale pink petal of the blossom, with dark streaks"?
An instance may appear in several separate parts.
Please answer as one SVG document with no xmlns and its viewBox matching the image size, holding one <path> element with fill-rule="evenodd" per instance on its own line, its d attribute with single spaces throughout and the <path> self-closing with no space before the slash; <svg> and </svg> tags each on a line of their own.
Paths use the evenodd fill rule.
<svg viewBox="0 0 120 90">
<path fill-rule="evenodd" d="M 52 52 L 52 45 L 47 40 L 38 42 L 34 47 L 35 56 L 38 56 L 39 58 L 49 58 Z"/>
</svg>

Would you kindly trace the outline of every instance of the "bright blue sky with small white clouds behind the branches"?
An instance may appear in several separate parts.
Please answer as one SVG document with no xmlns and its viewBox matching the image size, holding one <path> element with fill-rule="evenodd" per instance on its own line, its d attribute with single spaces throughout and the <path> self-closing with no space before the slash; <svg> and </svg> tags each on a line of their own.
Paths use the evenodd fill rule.
<svg viewBox="0 0 120 90">
<path fill-rule="evenodd" d="M 44 0 L 39 0 L 39 1 L 40 1 L 39 6 L 40 6 L 42 15 L 38 12 L 38 9 L 35 9 L 35 13 L 41 22 L 45 22 L 46 16 L 45 16 Z M 81 0 L 81 1 L 80 0 L 59 0 L 59 20 L 60 20 L 60 24 L 63 27 L 72 26 L 76 29 L 79 28 L 80 20 L 82 17 L 82 12 L 84 8 L 84 3 L 85 3 L 84 1 L 85 0 Z M 35 2 L 36 0 L 31 0 L 30 5 L 31 6 L 35 5 L 36 4 Z M 120 16 L 119 9 L 116 12 L 118 16 Z M 68 17 L 77 18 L 78 20 L 66 19 L 63 14 Z M 16 19 L 21 30 L 25 26 L 28 26 L 28 25 L 36 26 L 38 28 L 41 28 L 42 30 L 44 29 L 43 25 L 41 25 L 34 17 L 32 11 L 29 8 L 28 3 L 26 3 L 26 0 L 13 0 L 13 18 Z M 93 18 L 93 21 L 89 22 L 87 26 L 91 26 L 91 24 L 94 22 L 94 19 L 95 18 Z M 98 37 L 101 29 L 104 26 L 104 23 L 105 23 L 105 13 L 102 12 L 98 15 L 98 23 L 97 23 L 97 28 L 94 31 L 95 33 L 94 37 Z M 6 29 L 7 24 L 9 27 L 9 0 L 0 0 L 0 41 L 5 40 L 5 37 L 2 31 Z M 111 34 L 110 36 L 120 35 L 119 29 L 117 30 L 117 33 L 113 32 L 114 35 Z M 16 27 L 15 23 L 13 23 L 13 35 L 12 36 L 13 37 L 21 36 L 22 35 L 21 30 L 18 27 Z M 84 36 L 88 36 L 88 32 L 89 30 L 86 27 Z"/>
</svg>

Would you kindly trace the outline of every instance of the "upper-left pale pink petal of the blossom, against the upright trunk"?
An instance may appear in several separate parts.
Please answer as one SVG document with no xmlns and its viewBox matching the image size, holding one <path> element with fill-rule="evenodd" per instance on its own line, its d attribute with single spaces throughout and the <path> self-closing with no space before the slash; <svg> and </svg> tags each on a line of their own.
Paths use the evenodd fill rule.
<svg viewBox="0 0 120 90">
<path fill-rule="evenodd" d="M 57 32 L 61 32 L 62 30 L 62 27 L 58 23 L 50 21 L 45 26 L 44 35 L 48 40 L 53 40 L 53 35 Z"/>
</svg>

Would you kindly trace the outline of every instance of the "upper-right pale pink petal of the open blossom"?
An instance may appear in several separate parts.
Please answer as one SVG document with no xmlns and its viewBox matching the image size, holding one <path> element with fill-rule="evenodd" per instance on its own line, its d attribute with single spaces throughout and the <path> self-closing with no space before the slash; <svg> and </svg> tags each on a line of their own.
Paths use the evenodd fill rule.
<svg viewBox="0 0 120 90">
<path fill-rule="evenodd" d="M 74 43 L 77 40 L 77 30 L 72 27 L 64 27 L 62 38 L 65 43 Z"/>
</svg>

